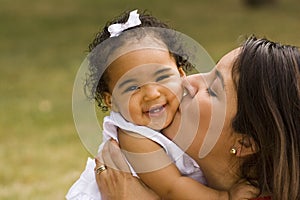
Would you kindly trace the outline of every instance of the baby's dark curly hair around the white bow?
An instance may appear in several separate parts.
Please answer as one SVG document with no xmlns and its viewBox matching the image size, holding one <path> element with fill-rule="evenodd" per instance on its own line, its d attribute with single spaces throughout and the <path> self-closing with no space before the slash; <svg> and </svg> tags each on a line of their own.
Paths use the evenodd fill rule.
<svg viewBox="0 0 300 200">
<path fill-rule="evenodd" d="M 161 40 L 169 50 L 172 49 L 172 51 L 170 51 L 170 55 L 174 57 L 176 65 L 178 67 L 182 67 L 184 71 L 190 71 L 193 69 L 192 64 L 188 62 L 187 54 L 181 49 L 179 38 L 176 37 L 176 32 L 174 31 L 174 33 L 172 32 L 174 35 L 170 35 L 170 30 L 172 29 L 166 23 L 161 22 L 147 13 L 147 11 L 139 13 L 141 21 L 140 25 L 126 29 L 118 37 L 111 38 L 110 33 L 108 32 L 108 27 L 116 23 L 125 23 L 128 20 L 129 13 L 129 11 L 126 11 L 119 17 L 107 22 L 104 28 L 96 34 L 93 41 L 89 44 L 89 66 L 84 89 L 87 97 L 89 99 L 95 99 L 102 111 L 107 111 L 107 106 L 104 104 L 102 98 L 103 92 L 109 92 L 108 73 L 105 71 L 107 68 L 107 61 L 109 56 L 115 50 L 127 42 L 126 38 L 128 38 L 128 36 L 125 37 L 125 33 L 130 32 L 128 33 L 130 37 L 139 39 L 143 38 L 143 36 L 147 34 L 148 29 L 143 29 L 144 27 L 161 28 L 159 29 L 160 31 L 157 31 L 154 35 Z M 133 29 L 136 29 L 136 31 Z"/>
</svg>

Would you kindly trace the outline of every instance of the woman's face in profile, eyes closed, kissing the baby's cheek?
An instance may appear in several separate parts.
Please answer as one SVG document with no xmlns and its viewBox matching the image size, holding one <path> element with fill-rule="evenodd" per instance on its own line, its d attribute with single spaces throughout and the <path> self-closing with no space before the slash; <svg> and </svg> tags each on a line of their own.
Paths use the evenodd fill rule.
<svg viewBox="0 0 300 200">
<path fill-rule="evenodd" d="M 195 94 L 184 97 L 181 110 L 164 130 L 167 137 L 195 160 L 229 152 L 232 147 L 231 121 L 237 101 L 231 71 L 238 52 L 235 49 L 225 55 L 209 73 L 187 78 L 190 84 L 187 88 L 192 88 Z"/>
</svg>

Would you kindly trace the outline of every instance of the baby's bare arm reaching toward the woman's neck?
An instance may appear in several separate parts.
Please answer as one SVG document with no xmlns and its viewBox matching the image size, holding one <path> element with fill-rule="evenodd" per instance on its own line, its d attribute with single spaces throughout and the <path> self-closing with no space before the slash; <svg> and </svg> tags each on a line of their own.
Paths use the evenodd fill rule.
<svg viewBox="0 0 300 200">
<path fill-rule="evenodd" d="M 141 180 L 163 199 L 229 199 L 228 192 L 208 188 L 181 176 L 160 145 L 142 137 L 119 130 L 123 153 Z"/>
</svg>

